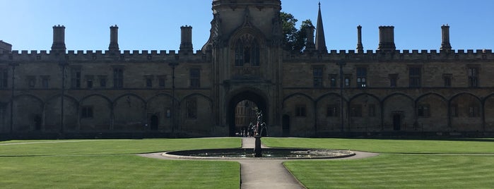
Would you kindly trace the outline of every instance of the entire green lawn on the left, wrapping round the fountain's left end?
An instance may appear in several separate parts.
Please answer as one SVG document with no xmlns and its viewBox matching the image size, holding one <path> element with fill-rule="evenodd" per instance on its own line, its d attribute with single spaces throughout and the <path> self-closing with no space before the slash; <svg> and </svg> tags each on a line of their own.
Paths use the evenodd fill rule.
<svg viewBox="0 0 494 189">
<path fill-rule="evenodd" d="M 4 145 L 6 143 L 18 143 Z M 0 142 L 1 188 L 239 188 L 240 164 L 136 153 L 240 147 L 240 138 Z"/>
</svg>

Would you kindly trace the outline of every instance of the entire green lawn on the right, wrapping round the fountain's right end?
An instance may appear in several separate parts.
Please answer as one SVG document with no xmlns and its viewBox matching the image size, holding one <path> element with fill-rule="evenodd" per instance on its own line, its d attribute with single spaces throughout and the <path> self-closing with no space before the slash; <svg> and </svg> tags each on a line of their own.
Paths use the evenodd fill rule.
<svg viewBox="0 0 494 189">
<path fill-rule="evenodd" d="M 263 138 L 276 147 L 380 152 L 357 160 L 286 161 L 307 188 L 494 188 L 494 140 Z"/>
</svg>

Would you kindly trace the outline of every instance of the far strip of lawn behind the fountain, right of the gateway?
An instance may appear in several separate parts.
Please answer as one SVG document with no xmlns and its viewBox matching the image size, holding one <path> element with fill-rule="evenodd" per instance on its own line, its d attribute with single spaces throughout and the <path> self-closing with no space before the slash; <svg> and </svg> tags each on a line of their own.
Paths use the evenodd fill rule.
<svg viewBox="0 0 494 189">
<path fill-rule="evenodd" d="M 494 139 L 262 138 L 262 142 L 270 147 L 310 147 L 381 153 L 494 153 Z"/>
</svg>

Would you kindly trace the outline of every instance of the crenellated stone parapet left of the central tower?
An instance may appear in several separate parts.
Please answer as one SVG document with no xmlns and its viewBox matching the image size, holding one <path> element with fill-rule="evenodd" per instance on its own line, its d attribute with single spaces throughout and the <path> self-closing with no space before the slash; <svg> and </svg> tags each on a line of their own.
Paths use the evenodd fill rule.
<svg viewBox="0 0 494 189">
<path fill-rule="evenodd" d="M 59 62 L 61 59 L 73 62 L 184 62 L 204 63 L 211 59 L 211 55 L 199 50 L 195 53 L 165 50 L 134 50 L 134 51 L 67 51 L 65 54 L 53 51 L 0 51 L 0 62 Z"/>
</svg>

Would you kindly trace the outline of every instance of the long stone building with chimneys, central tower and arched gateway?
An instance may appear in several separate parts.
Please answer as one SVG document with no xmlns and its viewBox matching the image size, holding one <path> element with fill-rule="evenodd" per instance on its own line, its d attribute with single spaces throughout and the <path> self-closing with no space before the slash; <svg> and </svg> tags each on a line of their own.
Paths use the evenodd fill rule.
<svg viewBox="0 0 494 189">
<path fill-rule="evenodd" d="M 0 51 L 0 134 L 228 136 L 235 109 L 253 102 L 269 135 L 492 135 L 494 54 L 453 50 L 443 25 L 437 50 L 396 50 L 394 27 L 379 48 L 327 51 L 321 10 L 302 54 L 282 47 L 281 1 L 213 0 L 208 42 L 194 51 Z M 439 45 L 439 44 L 438 44 Z M 241 103 L 240 103 L 241 104 Z M 253 105 L 254 105 L 253 104 Z"/>
</svg>

